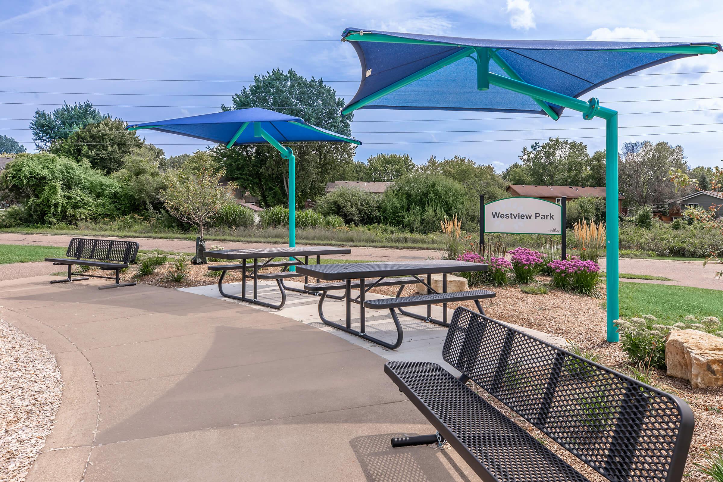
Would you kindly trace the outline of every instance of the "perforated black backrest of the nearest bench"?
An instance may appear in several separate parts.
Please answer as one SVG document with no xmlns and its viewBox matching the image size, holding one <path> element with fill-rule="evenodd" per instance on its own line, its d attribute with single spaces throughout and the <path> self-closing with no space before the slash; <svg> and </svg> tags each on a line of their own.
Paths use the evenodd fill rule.
<svg viewBox="0 0 723 482">
<path fill-rule="evenodd" d="M 682 478 L 693 436 L 683 400 L 464 308 L 442 356 L 608 480 Z"/>
</svg>

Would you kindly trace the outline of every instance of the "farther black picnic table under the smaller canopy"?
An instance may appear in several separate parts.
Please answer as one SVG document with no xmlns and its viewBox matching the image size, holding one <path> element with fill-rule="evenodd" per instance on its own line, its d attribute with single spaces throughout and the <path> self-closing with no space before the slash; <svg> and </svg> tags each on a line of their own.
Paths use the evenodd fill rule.
<svg viewBox="0 0 723 482">
<path fill-rule="evenodd" d="M 251 248 L 251 249 L 220 249 L 217 251 L 204 251 L 206 257 L 217 258 L 217 259 L 241 259 L 241 264 L 214 264 L 208 267 L 210 271 L 221 271 L 221 277 L 218 278 L 218 292 L 221 296 L 226 298 L 233 298 L 240 301 L 247 301 L 261 306 L 268 306 L 269 308 L 281 309 L 286 304 L 286 290 L 296 291 L 298 293 L 309 293 L 317 294 L 312 291 L 307 291 L 299 288 L 292 288 L 283 284 L 283 279 L 287 277 L 298 277 L 299 274 L 296 272 L 287 272 L 286 269 L 291 266 L 303 266 L 309 264 L 309 257 L 315 256 L 317 264 L 320 264 L 321 257 L 325 254 L 350 254 L 351 249 L 348 248 L 335 248 L 332 246 L 310 246 L 304 248 Z M 290 257 L 293 261 L 278 261 L 274 262 L 273 259 L 277 257 Z M 304 257 L 304 261 L 301 261 L 301 257 Z M 267 259 L 268 258 L 268 259 Z M 253 264 L 248 265 L 247 260 L 253 259 Z M 266 259 L 265 262 L 260 263 L 259 259 Z M 281 272 L 272 273 L 260 273 L 259 270 L 265 267 L 282 267 Z M 247 275 L 246 271 L 252 269 L 253 272 Z M 241 270 L 241 296 L 232 295 L 223 291 L 223 278 L 226 277 L 226 272 L 231 270 Z M 247 298 L 246 296 L 246 278 L 250 277 L 254 280 L 254 297 Z M 281 304 L 275 305 L 258 299 L 258 280 L 275 280 L 278 285 L 279 291 L 281 291 Z M 317 280 L 318 281 L 318 280 Z M 304 277 L 304 284 L 309 282 L 308 277 Z M 341 298 L 339 298 L 341 299 Z"/>
</svg>

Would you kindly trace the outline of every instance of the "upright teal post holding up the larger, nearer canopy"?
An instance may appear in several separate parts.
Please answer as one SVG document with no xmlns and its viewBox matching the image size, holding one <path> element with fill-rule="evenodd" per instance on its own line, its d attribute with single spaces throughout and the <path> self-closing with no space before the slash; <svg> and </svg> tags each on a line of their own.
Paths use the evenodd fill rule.
<svg viewBox="0 0 723 482">
<path fill-rule="evenodd" d="M 607 341 L 617 342 L 620 341 L 620 335 L 617 334 L 613 323 L 620 317 L 620 293 L 618 293 L 618 288 L 620 288 L 618 266 L 620 244 L 617 218 L 620 196 L 617 194 L 617 113 L 605 119 L 605 191 Z"/>
</svg>

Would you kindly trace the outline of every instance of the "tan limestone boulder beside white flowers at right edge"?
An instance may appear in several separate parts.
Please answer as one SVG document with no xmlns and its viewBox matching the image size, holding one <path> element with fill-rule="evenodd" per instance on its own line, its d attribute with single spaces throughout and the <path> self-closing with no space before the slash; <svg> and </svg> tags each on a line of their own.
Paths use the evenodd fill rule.
<svg viewBox="0 0 723 482">
<path fill-rule="evenodd" d="M 665 342 L 667 374 L 693 388 L 723 387 L 723 339 L 698 330 L 675 330 Z"/>
</svg>

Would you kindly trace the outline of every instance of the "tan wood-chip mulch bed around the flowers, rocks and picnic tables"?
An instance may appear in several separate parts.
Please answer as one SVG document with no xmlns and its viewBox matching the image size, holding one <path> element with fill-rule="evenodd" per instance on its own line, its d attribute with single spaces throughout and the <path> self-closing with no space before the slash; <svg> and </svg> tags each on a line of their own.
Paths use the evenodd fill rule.
<svg viewBox="0 0 723 482">
<path fill-rule="evenodd" d="M 210 263 L 222 264 L 222 263 Z M 171 264 L 166 263 L 153 273 L 138 279 L 139 283 L 162 286 L 164 288 L 188 288 L 191 286 L 211 285 L 218 282 L 218 277 L 209 277 L 207 267 L 189 266 L 189 273 L 181 283 L 173 283 L 164 280 L 163 276 L 171 270 Z M 280 268 L 266 268 L 266 272 L 279 271 Z M 124 280 L 133 277 L 134 267 L 124 273 Z M 542 283 L 549 278 L 539 277 Z M 224 281 L 237 283 L 241 280 L 239 271 L 229 271 Z M 294 281 L 303 282 L 304 278 L 291 278 Z M 580 296 L 564 291 L 550 289 L 547 294 L 536 295 L 522 293 L 517 286 L 495 288 L 482 286 L 490 291 L 495 291 L 497 296 L 492 299 L 483 300 L 483 306 L 487 314 L 502 322 L 518 324 L 522 327 L 539 330 L 551 335 L 565 337 L 582 350 L 595 353 L 600 358 L 600 363 L 609 366 L 623 373 L 630 372 L 627 356 L 620 350 L 620 345 L 607 343 L 605 340 L 605 309 L 604 309 L 604 286 L 599 297 Z M 394 296 L 395 287 L 374 288 L 372 292 L 388 296 Z M 411 294 L 416 291 L 415 285 L 408 285 L 404 288 L 404 294 Z M 448 304 L 450 308 L 466 306 L 475 309 L 474 302 L 464 301 L 458 304 Z M 685 400 L 696 417 L 696 431 L 693 434 L 693 443 L 688 456 L 688 475 L 686 482 L 709 481 L 706 475 L 698 472 L 694 462 L 704 462 L 709 456 L 710 450 L 723 447 L 723 390 L 720 388 L 693 389 L 690 383 L 683 379 L 666 376 L 664 371 L 658 370 L 655 373 L 654 386 L 665 392 L 672 393 Z M 547 439 L 542 432 L 537 431 L 529 423 L 526 423 L 497 402 L 481 389 L 478 390 L 490 403 L 497 406 L 503 413 L 520 423 L 521 426 L 540 440 Z M 563 460 L 580 470 L 591 481 L 604 481 L 599 474 L 594 473 L 587 465 L 580 462 L 576 457 L 570 455 L 555 443 L 547 443 L 547 447 L 560 455 Z"/>
</svg>

